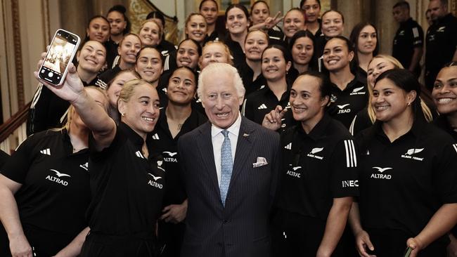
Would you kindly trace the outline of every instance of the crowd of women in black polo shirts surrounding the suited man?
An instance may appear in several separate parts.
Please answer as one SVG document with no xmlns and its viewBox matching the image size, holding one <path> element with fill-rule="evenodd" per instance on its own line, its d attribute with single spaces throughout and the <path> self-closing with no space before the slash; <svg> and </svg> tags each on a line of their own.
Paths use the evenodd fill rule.
<svg viewBox="0 0 457 257">
<path fill-rule="evenodd" d="M 207 120 L 196 92 L 212 62 L 238 70 L 240 112 L 281 133 L 271 256 L 457 256 L 457 62 L 429 92 L 378 54 L 373 24 L 347 39 L 342 13 L 318 0 L 283 17 L 231 4 L 225 35 L 217 1 L 199 11 L 178 46 L 157 11 L 138 32 L 122 6 L 89 21 L 65 84 L 41 81 L 32 135 L 1 169 L 0 256 L 179 256 L 177 141 Z"/>
</svg>

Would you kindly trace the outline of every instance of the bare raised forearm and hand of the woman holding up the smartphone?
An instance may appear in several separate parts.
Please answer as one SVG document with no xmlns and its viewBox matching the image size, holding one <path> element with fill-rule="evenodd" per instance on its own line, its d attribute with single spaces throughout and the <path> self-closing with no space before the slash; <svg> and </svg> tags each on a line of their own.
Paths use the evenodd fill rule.
<svg viewBox="0 0 457 257">
<path fill-rule="evenodd" d="M 43 56 L 43 55 L 42 55 Z M 39 61 L 41 65 L 43 60 Z M 35 77 L 39 79 L 38 72 L 34 72 Z M 63 100 L 67 100 L 75 107 L 79 117 L 84 124 L 92 131 L 96 140 L 98 151 L 108 147 L 115 137 L 116 124 L 103 107 L 98 105 L 93 98 L 84 90 L 84 85 L 76 72 L 76 67 L 70 63 L 67 76 L 62 86 L 53 86 L 48 82 L 39 79 L 49 90 L 58 95 Z"/>
</svg>

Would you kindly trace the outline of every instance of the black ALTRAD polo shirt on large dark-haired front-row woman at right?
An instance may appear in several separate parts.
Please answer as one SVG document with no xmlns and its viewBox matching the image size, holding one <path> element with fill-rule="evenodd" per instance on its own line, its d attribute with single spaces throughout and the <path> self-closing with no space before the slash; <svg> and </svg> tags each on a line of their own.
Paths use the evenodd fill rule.
<svg viewBox="0 0 457 257">
<path fill-rule="evenodd" d="M 390 142 L 380 122 L 356 136 L 359 208 L 364 228 L 401 230 L 414 237 L 442 204 L 457 202 L 457 145 L 447 133 L 416 119 Z"/>
</svg>

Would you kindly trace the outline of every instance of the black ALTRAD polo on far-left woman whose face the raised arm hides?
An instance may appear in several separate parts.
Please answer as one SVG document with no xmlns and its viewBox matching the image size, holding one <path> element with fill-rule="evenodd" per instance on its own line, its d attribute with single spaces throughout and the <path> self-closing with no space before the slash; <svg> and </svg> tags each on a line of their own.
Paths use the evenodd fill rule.
<svg viewBox="0 0 457 257">
<path fill-rule="evenodd" d="M 1 169 L 4 176 L 22 184 L 15 200 L 32 246 L 35 239 L 53 235 L 42 250 L 60 250 L 86 228 L 91 199 L 88 161 L 87 149 L 73 153 L 65 129 L 41 131 L 27 138 Z M 32 235 L 28 228 L 33 228 Z"/>
</svg>

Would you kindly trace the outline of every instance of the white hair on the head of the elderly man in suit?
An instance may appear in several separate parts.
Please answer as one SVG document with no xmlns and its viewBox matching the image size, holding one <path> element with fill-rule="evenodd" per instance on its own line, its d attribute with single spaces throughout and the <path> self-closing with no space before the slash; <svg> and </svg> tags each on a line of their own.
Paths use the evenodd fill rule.
<svg viewBox="0 0 457 257">
<path fill-rule="evenodd" d="M 228 63 L 221 63 L 221 62 L 214 62 L 205 67 L 205 69 L 200 72 L 200 76 L 198 76 L 198 88 L 197 93 L 200 99 L 203 98 L 203 78 L 207 76 L 212 76 L 212 79 L 218 79 L 217 74 L 231 74 L 233 77 L 233 86 L 236 88 L 236 92 L 238 93 L 238 97 L 244 97 L 245 95 L 245 86 L 243 86 L 243 80 L 241 80 L 240 74 L 238 74 L 238 70 L 232 65 Z"/>
</svg>

